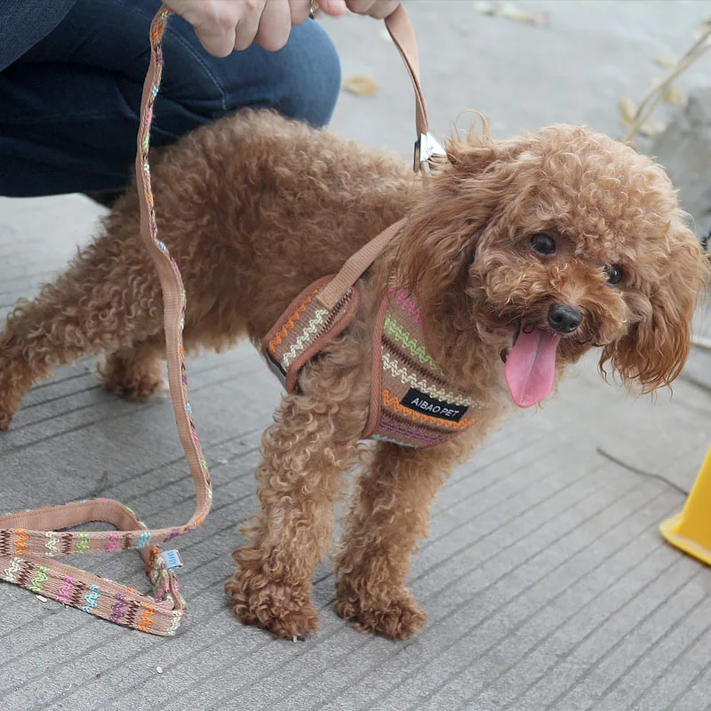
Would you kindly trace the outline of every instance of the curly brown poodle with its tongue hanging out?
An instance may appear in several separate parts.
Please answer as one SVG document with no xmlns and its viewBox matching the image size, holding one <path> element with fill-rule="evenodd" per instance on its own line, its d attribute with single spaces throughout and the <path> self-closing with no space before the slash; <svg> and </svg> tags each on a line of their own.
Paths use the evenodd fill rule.
<svg viewBox="0 0 711 711">
<path fill-rule="evenodd" d="M 361 279 L 355 320 L 301 371 L 263 438 L 260 514 L 226 589 L 239 619 L 277 636 L 318 626 L 312 575 L 342 475 L 362 453 L 374 311 L 392 268 L 419 300 L 431 356 L 487 407 L 451 442 L 369 450 L 337 556 L 337 611 L 362 630 L 404 639 L 424 624 L 405 576 L 429 505 L 512 399 L 538 402 L 590 348 L 601 349 L 601 369 L 643 391 L 667 385 L 686 359 L 707 267 L 659 166 L 571 126 L 506 141 L 472 135 L 447 152 L 419 180 L 394 156 L 245 112 L 153 157 L 161 238 L 188 290 L 188 349 L 243 336 L 259 344 L 308 284 L 408 218 Z M 111 392 L 156 393 L 162 319 L 132 190 L 68 271 L 9 317 L 0 428 L 33 382 L 84 354 L 104 354 Z M 536 380 L 527 358 L 546 377 Z"/>
</svg>

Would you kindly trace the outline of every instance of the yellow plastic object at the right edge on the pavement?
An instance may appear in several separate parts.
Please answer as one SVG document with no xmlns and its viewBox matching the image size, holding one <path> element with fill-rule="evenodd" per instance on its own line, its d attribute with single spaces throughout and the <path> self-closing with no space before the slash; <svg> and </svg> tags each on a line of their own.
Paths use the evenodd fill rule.
<svg viewBox="0 0 711 711">
<path fill-rule="evenodd" d="M 711 565 L 711 448 L 682 513 L 661 523 L 659 531 L 673 546 Z"/>
</svg>

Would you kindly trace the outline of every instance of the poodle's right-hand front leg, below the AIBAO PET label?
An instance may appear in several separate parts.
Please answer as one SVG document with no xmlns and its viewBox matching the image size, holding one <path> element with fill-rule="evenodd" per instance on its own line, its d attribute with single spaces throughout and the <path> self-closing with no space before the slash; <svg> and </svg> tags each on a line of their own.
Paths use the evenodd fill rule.
<svg viewBox="0 0 711 711">
<path fill-rule="evenodd" d="M 424 626 L 427 615 L 405 577 L 418 539 L 427 535 L 430 504 L 466 449 L 459 441 L 431 450 L 378 443 L 358 483 L 337 561 L 336 611 L 361 631 L 402 640 Z"/>
</svg>

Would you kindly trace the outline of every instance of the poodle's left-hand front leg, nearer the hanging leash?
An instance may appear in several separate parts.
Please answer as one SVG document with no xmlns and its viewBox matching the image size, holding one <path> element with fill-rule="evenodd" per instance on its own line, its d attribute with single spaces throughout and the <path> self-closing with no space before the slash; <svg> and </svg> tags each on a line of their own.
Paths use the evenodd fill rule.
<svg viewBox="0 0 711 711">
<path fill-rule="evenodd" d="M 350 414 L 349 414 L 350 412 Z M 331 538 L 340 475 L 352 466 L 362 417 L 338 403 L 287 395 L 263 437 L 257 470 L 261 510 L 236 549 L 239 569 L 225 591 L 238 619 L 277 637 L 302 638 L 318 627 L 310 602 L 316 565 Z"/>
</svg>

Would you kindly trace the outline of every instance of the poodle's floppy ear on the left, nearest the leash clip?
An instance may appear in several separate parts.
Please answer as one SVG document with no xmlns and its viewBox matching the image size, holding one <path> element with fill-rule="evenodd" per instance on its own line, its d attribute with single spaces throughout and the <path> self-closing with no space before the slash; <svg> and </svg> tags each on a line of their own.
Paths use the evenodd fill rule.
<svg viewBox="0 0 711 711">
<path fill-rule="evenodd" d="M 447 142 L 447 161 L 435 165 L 423 199 L 408 216 L 397 254 L 403 285 L 433 303 L 466 274 L 483 228 L 499 210 L 534 139 L 491 140 L 470 133 Z"/>
</svg>

